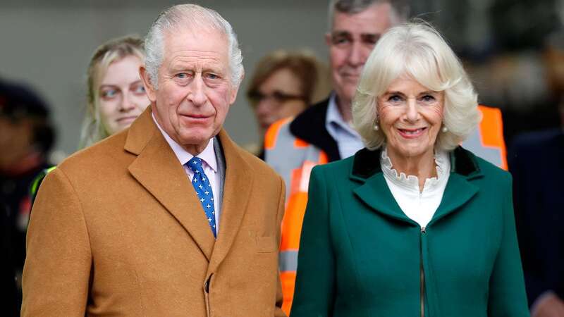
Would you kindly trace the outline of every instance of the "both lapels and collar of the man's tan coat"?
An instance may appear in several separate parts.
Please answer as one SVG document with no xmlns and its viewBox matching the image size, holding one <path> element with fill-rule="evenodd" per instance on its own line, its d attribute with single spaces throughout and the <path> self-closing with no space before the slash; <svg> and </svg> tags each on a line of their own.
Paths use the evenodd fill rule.
<svg viewBox="0 0 564 317">
<path fill-rule="evenodd" d="M 239 230 L 252 188 L 252 167 L 223 129 L 218 135 L 226 161 L 217 240 L 183 167 L 151 118 L 150 107 L 128 131 L 125 151 L 137 155 L 128 170 L 157 199 L 196 242 L 214 270 L 223 261 Z"/>
</svg>

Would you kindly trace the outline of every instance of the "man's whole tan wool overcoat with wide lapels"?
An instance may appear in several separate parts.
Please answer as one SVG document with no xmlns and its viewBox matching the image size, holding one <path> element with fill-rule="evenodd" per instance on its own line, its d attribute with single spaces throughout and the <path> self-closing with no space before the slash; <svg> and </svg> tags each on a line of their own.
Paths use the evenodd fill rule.
<svg viewBox="0 0 564 317">
<path fill-rule="evenodd" d="M 150 107 L 49 173 L 27 232 L 22 316 L 283 316 L 283 180 L 218 136 L 217 240 Z"/>
</svg>

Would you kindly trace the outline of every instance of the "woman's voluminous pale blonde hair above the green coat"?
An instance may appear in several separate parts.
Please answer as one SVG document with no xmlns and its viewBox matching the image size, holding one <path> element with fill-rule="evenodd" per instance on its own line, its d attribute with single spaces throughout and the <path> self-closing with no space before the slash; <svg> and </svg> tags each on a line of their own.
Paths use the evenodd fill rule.
<svg viewBox="0 0 564 317">
<path fill-rule="evenodd" d="M 389 29 L 376 43 L 353 99 L 353 125 L 368 149 L 386 142 L 384 132 L 374 130 L 378 97 L 401 75 L 445 94 L 443 125 L 448 132 L 439 132 L 436 149 L 454 149 L 477 127 L 478 97 L 458 57 L 429 24 L 405 23 Z"/>
</svg>

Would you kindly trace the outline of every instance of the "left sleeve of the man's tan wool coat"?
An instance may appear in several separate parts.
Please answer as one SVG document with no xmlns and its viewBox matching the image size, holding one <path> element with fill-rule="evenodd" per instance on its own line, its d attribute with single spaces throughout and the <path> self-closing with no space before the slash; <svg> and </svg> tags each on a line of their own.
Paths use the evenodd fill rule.
<svg viewBox="0 0 564 317">
<path fill-rule="evenodd" d="M 90 240 L 78 196 L 59 168 L 39 189 L 26 244 L 21 316 L 85 316 Z"/>
</svg>

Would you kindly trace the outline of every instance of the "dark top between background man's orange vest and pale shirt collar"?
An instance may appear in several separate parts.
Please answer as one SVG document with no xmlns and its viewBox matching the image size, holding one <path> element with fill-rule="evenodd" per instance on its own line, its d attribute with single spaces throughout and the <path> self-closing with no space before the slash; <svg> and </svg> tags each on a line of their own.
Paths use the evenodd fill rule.
<svg viewBox="0 0 564 317">
<path fill-rule="evenodd" d="M 313 144 L 323 150 L 330 162 L 341 159 L 337 142 L 327 129 L 325 128 L 325 120 L 327 118 L 327 108 L 329 107 L 329 99 L 314 104 L 300 113 L 292 123 L 290 123 L 290 132 L 309 144 Z"/>
</svg>

